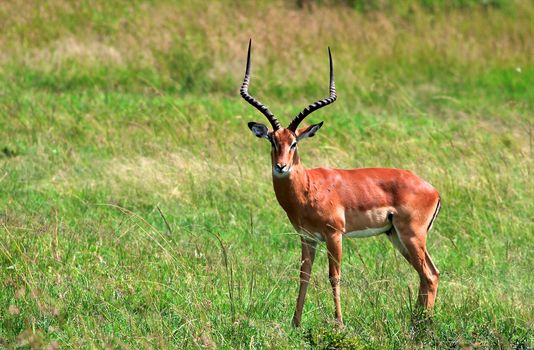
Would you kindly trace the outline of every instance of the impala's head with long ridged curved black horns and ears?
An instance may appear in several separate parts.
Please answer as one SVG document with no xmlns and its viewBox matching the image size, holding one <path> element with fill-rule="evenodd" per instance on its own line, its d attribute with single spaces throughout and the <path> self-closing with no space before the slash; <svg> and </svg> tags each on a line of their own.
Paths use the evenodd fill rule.
<svg viewBox="0 0 534 350">
<path fill-rule="evenodd" d="M 273 175 L 276 177 L 285 177 L 290 174 L 294 165 L 300 163 L 300 159 L 297 154 L 297 144 L 307 138 L 315 136 L 315 133 L 323 126 L 323 122 L 319 124 L 313 124 L 308 127 L 298 128 L 299 124 L 306 118 L 308 115 L 314 111 L 329 105 L 334 102 L 337 98 L 336 96 L 336 86 L 334 83 L 334 67 L 332 64 L 332 54 L 330 53 L 330 48 L 328 48 L 328 57 L 330 59 L 330 96 L 316 101 L 306 107 L 302 112 L 300 112 L 291 123 L 284 128 L 280 125 L 280 122 L 274 114 L 272 114 L 269 109 L 263 105 L 261 102 L 256 100 L 254 97 L 250 96 L 248 93 L 248 85 L 250 83 L 250 47 L 252 40 L 248 44 L 248 54 L 247 54 L 247 68 L 245 70 L 245 79 L 243 80 L 243 85 L 241 85 L 241 96 L 257 110 L 259 110 L 269 121 L 272 126 L 272 129 L 262 124 L 256 122 L 249 122 L 248 127 L 252 133 L 259 138 L 264 138 L 269 140 L 272 145 L 271 148 L 271 160 L 273 167 Z"/>
</svg>

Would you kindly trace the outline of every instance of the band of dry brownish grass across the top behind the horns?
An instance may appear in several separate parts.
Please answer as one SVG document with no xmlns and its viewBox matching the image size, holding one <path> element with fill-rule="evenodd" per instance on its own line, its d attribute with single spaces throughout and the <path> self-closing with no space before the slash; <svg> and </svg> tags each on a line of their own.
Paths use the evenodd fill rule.
<svg viewBox="0 0 534 350">
<path fill-rule="evenodd" d="M 107 20 L 112 24 L 84 25 L 87 20 L 80 19 L 87 5 L 61 0 L 37 6 L 3 3 L 3 61 L 23 56 L 30 66 L 69 59 L 150 65 L 155 63 L 155 52 L 186 46 L 195 56 L 213 60 L 213 74 L 232 74 L 241 70 L 244 47 L 251 37 L 257 43 L 256 65 L 276 59 L 285 70 L 298 71 L 299 77 L 318 67 L 324 70 L 324 57 L 319 53 L 326 46 L 334 47 L 336 61 L 348 66 L 347 71 L 373 60 L 400 57 L 417 62 L 428 52 L 437 60 L 474 68 L 503 63 L 521 67 L 534 56 L 530 45 L 534 29 L 528 25 L 533 10 L 527 1 L 516 5 L 514 21 L 493 9 L 429 15 L 414 6 L 406 17 L 380 12 L 364 16 L 339 5 L 303 11 L 282 2 L 269 6 L 134 3 L 121 10 L 100 4 L 90 10 L 97 18 L 110 17 Z M 69 17 L 78 22 L 67 28 L 55 25 Z M 38 31 L 36 22 L 51 28 Z M 21 35 L 25 45 L 20 45 Z M 37 51 L 28 51 L 35 46 Z M 302 65 L 303 60 L 317 63 Z"/>
</svg>

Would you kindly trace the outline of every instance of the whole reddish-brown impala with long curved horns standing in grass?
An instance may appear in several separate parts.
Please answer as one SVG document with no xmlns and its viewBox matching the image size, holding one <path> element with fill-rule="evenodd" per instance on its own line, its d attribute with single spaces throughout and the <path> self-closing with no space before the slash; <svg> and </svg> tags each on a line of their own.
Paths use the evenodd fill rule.
<svg viewBox="0 0 534 350">
<path fill-rule="evenodd" d="M 438 192 L 407 170 L 305 169 L 298 145 L 315 136 L 323 122 L 304 128 L 298 126 L 306 116 L 336 100 L 330 48 L 330 96 L 309 105 L 284 128 L 266 106 L 248 93 L 250 47 L 251 42 L 241 96 L 267 118 L 272 130 L 255 122 L 248 123 L 248 127 L 255 136 L 267 139 L 272 145 L 274 192 L 302 243 L 300 288 L 293 325 L 299 326 L 301 322 L 317 241 L 326 242 L 335 318 L 337 323 L 343 324 L 339 283 L 342 242 L 346 237 L 386 234 L 419 274 L 419 304 L 432 309 L 439 271 L 426 249 L 426 237 L 440 209 Z"/>
</svg>

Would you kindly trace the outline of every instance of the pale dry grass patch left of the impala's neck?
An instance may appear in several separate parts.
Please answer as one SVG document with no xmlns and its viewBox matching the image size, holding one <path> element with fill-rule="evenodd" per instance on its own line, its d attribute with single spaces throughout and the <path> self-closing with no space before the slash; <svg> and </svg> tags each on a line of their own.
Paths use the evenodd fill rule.
<svg viewBox="0 0 534 350">
<path fill-rule="evenodd" d="M 234 165 L 218 163 L 211 157 L 198 158 L 187 150 L 160 153 L 157 157 L 139 155 L 94 160 L 89 167 L 85 161 L 71 157 L 68 164 L 51 174 L 50 178 L 42 179 L 35 189 L 68 195 L 80 188 L 90 191 L 107 188 L 110 198 L 128 198 L 137 194 L 194 205 L 191 197 L 193 183 L 204 187 L 212 180 L 213 174 L 217 174 L 218 181 L 226 186 L 235 186 L 237 181 Z M 248 167 L 239 172 L 241 176 L 251 176 Z"/>
</svg>

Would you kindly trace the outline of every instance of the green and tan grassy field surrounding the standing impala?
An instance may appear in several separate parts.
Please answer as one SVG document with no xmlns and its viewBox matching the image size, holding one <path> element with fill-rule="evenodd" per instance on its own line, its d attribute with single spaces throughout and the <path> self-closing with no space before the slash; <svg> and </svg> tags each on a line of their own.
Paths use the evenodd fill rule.
<svg viewBox="0 0 534 350">
<path fill-rule="evenodd" d="M 443 3 L 1 2 L 0 347 L 531 349 L 534 8 Z M 250 37 L 284 123 L 326 96 L 332 48 L 305 166 L 440 191 L 431 320 L 375 237 L 345 241 L 346 327 L 321 246 L 291 328 L 300 241 L 246 127 Z"/>
</svg>

